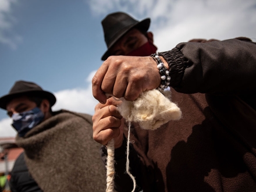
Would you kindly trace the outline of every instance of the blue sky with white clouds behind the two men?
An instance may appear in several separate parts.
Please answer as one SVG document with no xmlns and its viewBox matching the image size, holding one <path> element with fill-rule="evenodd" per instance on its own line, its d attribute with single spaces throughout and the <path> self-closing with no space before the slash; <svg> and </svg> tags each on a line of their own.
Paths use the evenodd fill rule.
<svg viewBox="0 0 256 192">
<path fill-rule="evenodd" d="M 0 96 L 16 80 L 34 81 L 57 97 L 54 110 L 93 115 L 91 78 L 106 51 L 101 20 L 124 11 L 151 17 L 158 51 L 192 38 L 256 41 L 255 0 L 0 0 Z M 0 137 L 15 136 L 0 109 Z"/>
</svg>

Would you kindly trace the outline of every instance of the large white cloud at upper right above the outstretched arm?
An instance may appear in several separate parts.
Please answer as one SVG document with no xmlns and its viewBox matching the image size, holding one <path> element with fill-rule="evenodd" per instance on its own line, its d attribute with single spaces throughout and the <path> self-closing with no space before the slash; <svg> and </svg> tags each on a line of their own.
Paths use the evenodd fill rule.
<svg viewBox="0 0 256 192">
<path fill-rule="evenodd" d="M 192 38 L 256 40 L 255 1 L 176 1 L 162 27 L 152 24 L 159 51 Z M 182 13 L 182 14 L 181 14 Z"/>
</svg>

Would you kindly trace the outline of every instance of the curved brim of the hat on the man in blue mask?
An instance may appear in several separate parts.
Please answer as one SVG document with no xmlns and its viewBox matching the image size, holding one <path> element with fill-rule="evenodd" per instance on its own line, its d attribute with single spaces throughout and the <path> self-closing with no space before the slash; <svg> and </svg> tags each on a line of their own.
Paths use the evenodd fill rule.
<svg viewBox="0 0 256 192">
<path fill-rule="evenodd" d="M 22 96 L 27 96 L 27 97 L 40 97 L 40 98 L 45 98 L 48 99 L 50 102 L 50 105 L 53 106 L 56 102 L 56 97 L 54 94 L 49 93 L 48 91 L 42 91 L 42 90 L 31 90 L 31 91 L 17 91 L 16 93 L 10 93 L 7 95 L 4 95 L 3 97 L 0 98 L 0 108 L 6 110 L 6 105 L 8 102 L 10 102 L 12 99 L 17 98 L 17 97 L 22 97 Z"/>
</svg>

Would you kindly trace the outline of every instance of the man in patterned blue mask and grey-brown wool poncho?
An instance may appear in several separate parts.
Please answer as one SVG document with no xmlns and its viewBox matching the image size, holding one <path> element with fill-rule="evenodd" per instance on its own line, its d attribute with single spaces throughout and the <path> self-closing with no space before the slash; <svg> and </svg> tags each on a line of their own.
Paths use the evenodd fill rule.
<svg viewBox="0 0 256 192">
<path fill-rule="evenodd" d="M 12 170 L 12 191 L 104 191 L 91 116 L 52 112 L 55 102 L 54 94 L 28 81 L 16 81 L 0 98 L 0 107 L 13 119 L 16 144 L 24 148 Z"/>
</svg>

